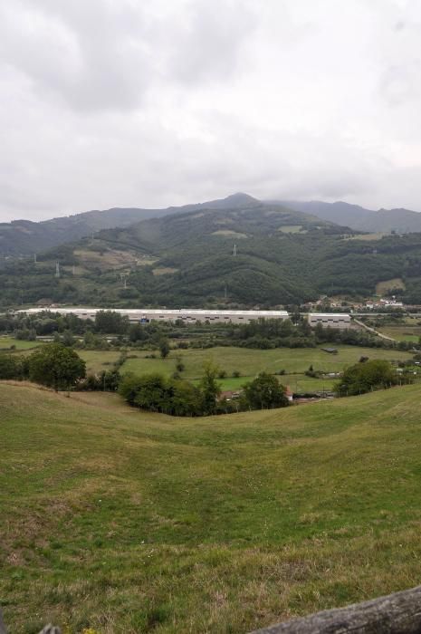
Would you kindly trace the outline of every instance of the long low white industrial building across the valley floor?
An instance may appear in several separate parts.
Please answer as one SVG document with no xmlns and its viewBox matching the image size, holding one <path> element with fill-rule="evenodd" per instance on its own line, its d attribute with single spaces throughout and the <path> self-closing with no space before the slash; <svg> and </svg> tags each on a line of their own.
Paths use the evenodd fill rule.
<svg viewBox="0 0 421 634">
<path fill-rule="evenodd" d="M 24 311 L 26 314 L 43 312 L 49 310 L 51 312 L 58 312 L 62 315 L 74 314 L 81 319 L 95 319 L 97 312 L 104 311 L 104 308 L 28 308 Z M 196 322 L 219 322 L 219 323 L 247 323 L 253 322 L 256 319 L 288 319 L 289 315 L 286 311 L 204 311 L 202 309 L 189 310 L 187 308 L 181 309 L 149 309 L 149 308 L 112 308 L 114 312 L 119 312 L 120 315 L 129 317 L 130 322 L 148 323 L 152 321 L 156 322 L 176 322 L 182 320 L 187 323 Z"/>
</svg>

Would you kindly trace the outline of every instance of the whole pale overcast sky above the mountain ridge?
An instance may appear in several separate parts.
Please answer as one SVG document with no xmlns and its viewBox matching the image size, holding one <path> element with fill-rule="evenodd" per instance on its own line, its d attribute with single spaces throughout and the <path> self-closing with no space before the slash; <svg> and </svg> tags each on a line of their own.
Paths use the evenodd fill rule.
<svg viewBox="0 0 421 634">
<path fill-rule="evenodd" d="M 3 0 L 0 219 L 245 191 L 421 211 L 419 0 Z"/>
</svg>

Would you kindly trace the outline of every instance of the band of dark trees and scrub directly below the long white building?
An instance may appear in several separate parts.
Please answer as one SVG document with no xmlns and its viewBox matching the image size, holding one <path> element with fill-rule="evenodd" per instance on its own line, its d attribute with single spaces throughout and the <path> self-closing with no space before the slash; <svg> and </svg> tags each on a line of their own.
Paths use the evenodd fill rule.
<svg viewBox="0 0 421 634">
<path fill-rule="evenodd" d="M 196 323 L 181 320 L 170 323 L 130 323 L 115 311 L 99 311 L 95 319 L 82 320 L 76 315 L 44 311 L 37 314 L 0 316 L 0 333 L 34 341 L 50 336 L 56 342 L 75 349 L 108 350 L 121 346 L 160 350 L 162 341 L 172 348 L 212 348 L 238 346 L 267 350 L 274 348 L 314 348 L 323 343 L 348 344 L 369 348 L 410 351 L 410 341 L 388 341 L 362 330 L 337 330 L 317 324 L 311 329 L 307 319 L 292 312 L 289 320 L 260 319 L 244 324 Z M 169 345 L 169 343 L 168 343 Z"/>
</svg>

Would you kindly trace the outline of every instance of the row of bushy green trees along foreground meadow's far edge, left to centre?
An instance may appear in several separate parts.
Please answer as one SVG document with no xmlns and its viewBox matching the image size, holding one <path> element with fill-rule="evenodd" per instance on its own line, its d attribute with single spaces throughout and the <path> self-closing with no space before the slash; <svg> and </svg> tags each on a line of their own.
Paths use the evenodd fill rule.
<svg viewBox="0 0 421 634">
<path fill-rule="evenodd" d="M 165 352 L 165 351 L 164 351 Z M 217 382 L 220 370 L 211 362 L 204 365 L 198 385 L 158 373 L 120 375 L 117 362 L 113 370 L 86 375 L 85 361 L 62 343 L 40 346 L 30 355 L 0 354 L 0 379 L 28 379 L 58 390 L 82 389 L 118 391 L 129 405 L 173 416 L 208 416 L 246 409 L 282 408 L 289 402 L 285 389 L 273 377 L 262 372 L 244 385 L 237 401 L 220 399 Z"/>
</svg>

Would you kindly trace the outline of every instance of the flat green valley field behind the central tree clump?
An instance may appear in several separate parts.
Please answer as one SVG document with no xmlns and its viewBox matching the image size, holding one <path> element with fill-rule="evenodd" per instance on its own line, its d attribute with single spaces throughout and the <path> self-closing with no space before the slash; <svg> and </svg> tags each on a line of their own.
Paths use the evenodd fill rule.
<svg viewBox="0 0 421 634">
<path fill-rule="evenodd" d="M 310 365 L 314 370 L 336 372 L 352 363 L 357 363 L 361 356 L 369 359 L 410 359 L 407 352 L 388 351 L 376 348 L 359 348 L 356 346 L 338 346 L 338 354 L 329 354 L 319 348 L 278 348 L 276 350 L 250 350 L 247 348 L 211 348 L 209 350 L 180 350 L 171 351 L 170 356 L 162 360 L 157 352 L 157 359 L 147 359 L 150 352 L 135 352 L 136 359 L 129 359 L 122 367 L 123 372 L 162 372 L 169 376 L 176 370 L 177 359 L 181 359 L 186 366 L 183 376 L 186 379 L 195 380 L 203 373 L 203 364 L 206 360 L 213 360 L 228 377 L 234 370 L 241 372 L 242 377 L 254 378 L 263 370 L 276 372 L 285 370 L 287 374 L 292 372 L 304 372 Z M 281 378 L 284 380 L 283 378 Z M 315 379 L 308 379 L 315 380 Z M 244 381 L 244 379 L 243 379 Z M 241 383 L 242 381 L 240 381 Z M 307 381 L 306 381 L 307 382 Z M 231 389 L 237 384 L 237 379 L 224 381 L 225 389 Z"/>
</svg>

